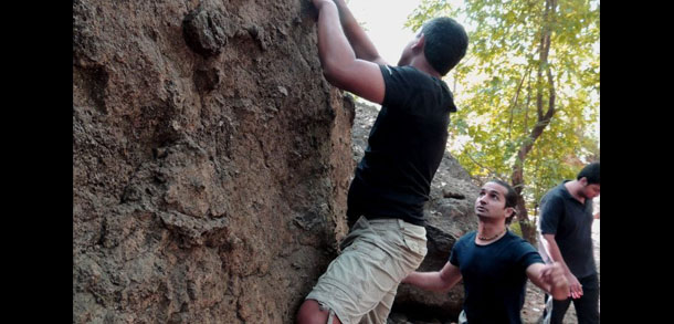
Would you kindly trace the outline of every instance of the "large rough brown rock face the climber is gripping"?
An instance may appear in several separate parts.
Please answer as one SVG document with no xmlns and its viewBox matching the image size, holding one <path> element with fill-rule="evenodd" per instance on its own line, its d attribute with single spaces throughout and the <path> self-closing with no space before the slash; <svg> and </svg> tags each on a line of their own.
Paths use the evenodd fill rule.
<svg viewBox="0 0 674 324">
<path fill-rule="evenodd" d="M 293 323 L 354 168 L 314 20 L 299 0 L 73 2 L 74 323 Z"/>
</svg>

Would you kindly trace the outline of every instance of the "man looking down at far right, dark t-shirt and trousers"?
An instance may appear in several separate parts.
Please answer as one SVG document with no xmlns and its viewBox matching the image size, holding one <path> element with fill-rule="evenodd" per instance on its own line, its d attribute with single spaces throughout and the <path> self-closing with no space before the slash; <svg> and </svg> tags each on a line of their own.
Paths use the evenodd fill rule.
<svg viewBox="0 0 674 324">
<path fill-rule="evenodd" d="M 562 265 L 570 288 L 570 299 L 552 302 L 550 323 L 562 322 L 571 300 L 579 324 L 599 323 L 599 278 L 592 248 L 592 198 L 599 192 L 599 163 L 593 163 L 576 180 L 565 180 L 540 200 L 538 250 L 547 262 Z"/>
</svg>

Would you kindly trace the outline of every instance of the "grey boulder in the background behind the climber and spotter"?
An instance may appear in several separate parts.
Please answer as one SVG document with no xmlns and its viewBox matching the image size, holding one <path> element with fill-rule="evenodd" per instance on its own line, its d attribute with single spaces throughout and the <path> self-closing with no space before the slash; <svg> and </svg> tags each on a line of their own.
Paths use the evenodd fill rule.
<svg viewBox="0 0 674 324">
<path fill-rule="evenodd" d="M 379 113 L 373 105 L 356 104 L 356 121 L 351 135 L 354 161 L 360 161 L 372 123 Z M 452 140 L 450 138 L 449 140 Z M 477 229 L 473 207 L 480 187 L 449 153 L 445 153 L 433 181 L 431 200 L 424 206 L 428 219 L 428 254 L 419 271 L 439 271 L 450 258 L 454 242 L 464 233 Z M 449 293 L 422 291 L 401 284 L 389 316 L 390 323 L 450 323 L 456 321 L 463 304 L 463 284 Z M 408 322 L 411 321 L 411 322 Z"/>
</svg>

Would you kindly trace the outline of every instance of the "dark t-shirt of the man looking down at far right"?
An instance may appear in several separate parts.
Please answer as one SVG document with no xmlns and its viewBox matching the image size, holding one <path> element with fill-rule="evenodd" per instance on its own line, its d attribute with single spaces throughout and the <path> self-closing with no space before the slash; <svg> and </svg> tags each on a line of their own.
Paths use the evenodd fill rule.
<svg viewBox="0 0 674 324">
<path fill-rule="evenodd" d="M 592 199 L 578 201 L 565 184 L 550 189 L 540 200 L 540 232 L 555 234 L 555 242 L 576 278 L 597 273 L 592 248 Z"/>
</svg>

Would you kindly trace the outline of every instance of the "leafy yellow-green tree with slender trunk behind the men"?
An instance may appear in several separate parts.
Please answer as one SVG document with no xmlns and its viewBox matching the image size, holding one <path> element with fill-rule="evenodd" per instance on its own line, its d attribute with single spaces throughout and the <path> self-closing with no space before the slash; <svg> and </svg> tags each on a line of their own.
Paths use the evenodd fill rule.
<svg viewBox="0 0 674 324">
<path fill-rule="evenodd" d="M 534 243 L 537 201 L 599 158 L 599 1 L 452 2 L 423 0 L 407 27 L 465 18 L 468 53 L 449 75 L 451 151 L 480 180 L 509 179 Z"/>
</svg>

